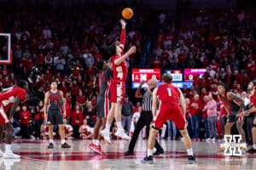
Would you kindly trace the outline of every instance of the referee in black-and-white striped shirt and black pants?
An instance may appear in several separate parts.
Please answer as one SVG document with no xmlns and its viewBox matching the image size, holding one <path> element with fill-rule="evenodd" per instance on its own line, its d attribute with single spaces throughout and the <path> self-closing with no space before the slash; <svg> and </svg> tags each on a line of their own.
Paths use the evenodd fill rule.
<svg viewBox="0 0 256 170">
<path fill-rule="evenodd" d="M 151 78 L 148 80 L 148 88 L 145 88 L 145 93 L 141 94 L 141 88 L 143 86 L 143 82 L 140 83 L 139 87 L 137 88 L 135 97 L 136 98 L 143 98 L 143 105 L 142 105 L 142 112 L 141 116 L 137 121 L 134 133 L 131 138 L 131 142 L 129 144 L 128 150 L 125 152 L 125 156 L 131 156 L 133 155 L 133 150 L 135 147 L 135 144 L 137 142 L 137 137 L 140 133 L 140 131 L 143 129 L 144 126 L 146 126 L 146 135 L 148 139 L 148 134 L 149 134 L 149 128 L 150 128 L 150 123 L 153 120 L 153 115 L 152 115 L 152 92 L 154 88 L 157 85 L 157 80 L 154 78 Z M 158 141 L 155 139 L 155 144 L 154 147 L 156 148 L 156 151 L 154 155 L 160 155 L 164 153 L 164 150 L 158 143 Z"/>
</svg>

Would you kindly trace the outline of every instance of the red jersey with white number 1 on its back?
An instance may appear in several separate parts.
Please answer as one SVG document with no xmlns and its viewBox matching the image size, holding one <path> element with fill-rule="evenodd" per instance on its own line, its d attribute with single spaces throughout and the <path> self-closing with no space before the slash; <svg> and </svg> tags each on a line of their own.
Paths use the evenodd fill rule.
<svg viewBox="0 0 256 170">
<path fill-rule="evenodd" d="M 163 84 L 157 90 L 157 98 L 160 103 L 179 104 L 179 92 L 172 84 Z"/>
</svg>

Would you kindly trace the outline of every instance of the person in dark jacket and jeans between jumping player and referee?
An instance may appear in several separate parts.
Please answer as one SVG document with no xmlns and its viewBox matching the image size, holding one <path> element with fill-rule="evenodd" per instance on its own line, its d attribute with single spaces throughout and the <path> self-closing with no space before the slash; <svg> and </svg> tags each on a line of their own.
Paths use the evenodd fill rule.
<svg viewBox="0 0 256 170">
<path fill-rule="evenodd" d="M 131 116 L 133 114 L 133 105 L 131 101 L 129 101 L 128 95 L 125 95 L 125 101 L 122 105 L 122 126 L 125 129 L 128 135 L 130 134 L 131 128 Z"/>
</svg>

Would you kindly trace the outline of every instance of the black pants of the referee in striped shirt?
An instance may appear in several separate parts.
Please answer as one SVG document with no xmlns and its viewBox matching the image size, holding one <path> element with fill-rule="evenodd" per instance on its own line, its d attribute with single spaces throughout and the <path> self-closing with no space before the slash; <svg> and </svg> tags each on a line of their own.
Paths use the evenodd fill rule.
<svg viewBox="0 0 256 170">
<path fill-rule="evenodd" d="M 133 152 L 135 144 L 137 142 L 137 137 L 144 126 L 146 126 L 146 136 L 148 139 L 149 129 L 150 129 L 150 123 L 153 120 L 153 115 L 151 111 L 142 111 L 141 116 L 137 121 L 135 130 L 133 132 L 133 135 L 131 137 L 131 142 L 129 144 L 129 151 Z M 163 150 L 160 144 L 158 143 L 157 139 L 155 139 L 154 147 L 156 150 Z"/>
</svg>

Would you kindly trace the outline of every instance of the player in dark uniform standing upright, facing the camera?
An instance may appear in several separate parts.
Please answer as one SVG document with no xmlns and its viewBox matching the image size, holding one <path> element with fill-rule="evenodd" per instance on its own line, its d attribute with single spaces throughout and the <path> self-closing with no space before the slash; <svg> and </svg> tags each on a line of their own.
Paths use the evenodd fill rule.
<svg viewBox="0 0 256 170">
<path fill-rule="evenodd" d="M 71 148 L 69 144 L 65 142 L 65 132 L 63 116 L 61 115 L 61 107 L 63 109 L 63 116 L 66 116 L 66 106 L 61 90 L 57 89 L 57 82 L 50 82 L 50 90 L 46 92 L 44 97 L 44 118 L 45 122 L 49 126 L 49 145 L 48 148 L 54 148 L 53 130 L 54 126 L 58 125 L 59 134 L 61 136 L 61 148 Z"/>
</svg>

